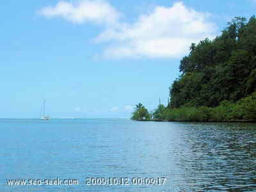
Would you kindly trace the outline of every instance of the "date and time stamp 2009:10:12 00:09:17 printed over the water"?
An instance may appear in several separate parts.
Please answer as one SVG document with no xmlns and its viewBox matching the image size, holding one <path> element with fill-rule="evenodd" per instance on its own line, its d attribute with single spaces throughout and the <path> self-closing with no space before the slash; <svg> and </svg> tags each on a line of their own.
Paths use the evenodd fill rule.
<svg viewBox="0 0 256 192">
<path fill-rule="evenodd" d="M 129 185 L 129 182 L 132 182 L 133 185 L 164 185 L 166 178 L 165 177 L 145 177 L 144 179 L 141 177 L 132 177 L 129 179 L 128 177 L 86 177 L 86 185 L 95 186 L 95 185 Z"/>
</svg>

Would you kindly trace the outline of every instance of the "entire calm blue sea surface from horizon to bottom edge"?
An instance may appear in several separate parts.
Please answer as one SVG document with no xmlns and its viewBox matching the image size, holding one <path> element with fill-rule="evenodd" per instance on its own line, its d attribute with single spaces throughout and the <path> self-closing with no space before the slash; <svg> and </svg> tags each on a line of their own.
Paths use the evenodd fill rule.
<svg viewBox="0 0 256 192">
<path fill-rule="evenodd" d="M 0 119 L 0 131 L 0 191 L 256 191 L 252 123 Z M 57 177 L 79 183 L 6 181 Z M 102 183 L 121 177 L 123 185 Z M 136 184 L 138 177 L 144 184 Z M 151 185 L 150 177 L 161 185 Z"/>
</svg>

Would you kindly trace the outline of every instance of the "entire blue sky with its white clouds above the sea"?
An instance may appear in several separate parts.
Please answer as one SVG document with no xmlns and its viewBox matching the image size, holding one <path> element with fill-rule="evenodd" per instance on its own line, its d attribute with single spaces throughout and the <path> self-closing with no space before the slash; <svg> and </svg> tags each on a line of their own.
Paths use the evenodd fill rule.
<svg viewBox="0 0 256 192">
<path fill-rule="evenodd" d="M 131 117 L 167 104 L 191 43 L 255 0 L 1 1 L 0 118 Z"/>
</svg>

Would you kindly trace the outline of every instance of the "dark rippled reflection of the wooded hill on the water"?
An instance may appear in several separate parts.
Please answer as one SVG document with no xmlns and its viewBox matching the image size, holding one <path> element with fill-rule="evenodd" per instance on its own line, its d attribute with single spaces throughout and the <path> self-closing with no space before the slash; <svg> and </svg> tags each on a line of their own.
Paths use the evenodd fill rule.
<svg viewBox="0 0 256 192">
<path fill-rule="evenodd" d="M 182 133 L 186 133 L 178 145 L 182 158 L 175 161 L 182 171 L 184 191 L 255 191 L 255 124 L 182 126 Z"/>
</svg>

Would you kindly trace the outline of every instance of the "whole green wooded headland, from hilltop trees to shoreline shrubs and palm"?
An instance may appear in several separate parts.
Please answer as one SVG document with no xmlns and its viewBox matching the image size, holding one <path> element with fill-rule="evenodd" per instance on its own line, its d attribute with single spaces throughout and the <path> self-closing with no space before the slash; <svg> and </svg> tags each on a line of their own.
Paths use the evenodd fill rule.
<svg viewBox="0 0 256 192">
<path fill-rule="evenodd" d="M 135 120 L 256 121 L 256 18 L 236 17 L 220 36 L 206 38 L 180 61 L 180 76 L 170 87 L 170 103 Z"/>
</svg>

